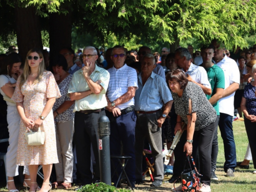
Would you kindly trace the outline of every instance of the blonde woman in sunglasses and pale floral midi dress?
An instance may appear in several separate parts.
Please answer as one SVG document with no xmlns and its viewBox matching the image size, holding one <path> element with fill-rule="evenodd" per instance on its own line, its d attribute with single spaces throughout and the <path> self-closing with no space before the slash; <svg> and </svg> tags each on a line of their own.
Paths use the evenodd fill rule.
<svg viewBox="0 0 256 192">
<path fill-rule="evenodd" d="M 44 183 L 40 192 L 49 191 L 52 164 L 58 163 L 56 150 L 55 126 L 52 107 L 60 92 L 51 72 L 45 71 L 45 62 L 39 49 L 28 52 L 24 73 L 17 79 L 12 100 L 16 102 L 20 116 L 17 164 L 29 165 L 31 186 L 29 191 L 36 191 L 38 165 L 42 165 Z M 25 133 L 28 130 L 45 132 L 45 143 L 28 145 Z"/>
</svg>

